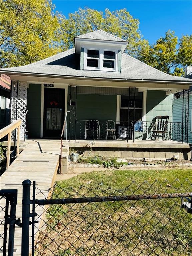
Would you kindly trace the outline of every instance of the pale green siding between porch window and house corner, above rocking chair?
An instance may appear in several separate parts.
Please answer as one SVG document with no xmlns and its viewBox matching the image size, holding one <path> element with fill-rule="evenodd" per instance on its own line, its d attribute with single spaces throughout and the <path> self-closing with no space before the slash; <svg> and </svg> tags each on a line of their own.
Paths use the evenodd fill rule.
<svg viewBox="0 0 192 256">
<path fill-rule="evenodd" d="M 151 122 L 156 116 L 169 116 L 172 122 L 173 95 L 165 91 L 148 90 L 146 104 L 146 121 Z"/>
</svg>

